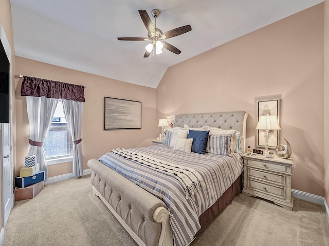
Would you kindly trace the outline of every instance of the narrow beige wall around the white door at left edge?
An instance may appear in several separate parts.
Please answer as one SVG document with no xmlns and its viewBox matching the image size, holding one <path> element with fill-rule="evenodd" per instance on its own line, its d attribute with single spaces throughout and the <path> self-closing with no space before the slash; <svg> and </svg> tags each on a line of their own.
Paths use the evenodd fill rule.
<svg viewBox="0 0 329 246">
<path fill-rule="evenodd" d="M 11 23 L 11 9 L 10 9 L 10 1 L 9 0 L 2 0 L 0 1 L 0 23 L 3 25 L 5 30 L 9 45 L 11 47 L 11 71 L 12 71 L 12 81 L 14 84 L 14 73 L 15 73 L 15 50 L 14 50 L 14 40 L 12 34 L 12 23 Z M 12 86 L 14 88 L 14 86 Z M 14 92 L 13 92 L 14 93 Z M 14 97 L 12 97 L 14 98 Z M 15 100 L 12 100 L 12 109 L 13 109 L 13 145 L 15 145 Z M 0 146 L 1 148 L 1 146 Z M 15 149 L 13 150 L 12 156 L 13 165 L 15 165 Z M 1 160 L 0 160 L 1 163 Z M 0 182 L 0 189 L 1 189 L 1 182 Z M 1 196 L 0 196 L 0 204 Z M 2 208 L 1 208 L 2 210 Z M 1 228 L 3 227 L 2 224 L 2 213 L 0 213 L 0 223 Z M 1 230 L 1 229 L 0 229 Z"/>
</svg>

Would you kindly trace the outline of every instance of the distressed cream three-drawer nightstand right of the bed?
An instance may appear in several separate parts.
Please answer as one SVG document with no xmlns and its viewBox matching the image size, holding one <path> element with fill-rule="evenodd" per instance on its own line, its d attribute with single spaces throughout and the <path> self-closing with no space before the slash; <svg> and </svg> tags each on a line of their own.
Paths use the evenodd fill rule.
<svg viewBox="0 0 329 246">
<path fill-rule="evenodd" d="M 243 155 L 244 188 L 248 196 L 258 196 L 277 205 L 293 210 L 294 197 L 291 193 L 291 171 L 294 159 L 266 158 L 263 155 Z"/>
</svg>

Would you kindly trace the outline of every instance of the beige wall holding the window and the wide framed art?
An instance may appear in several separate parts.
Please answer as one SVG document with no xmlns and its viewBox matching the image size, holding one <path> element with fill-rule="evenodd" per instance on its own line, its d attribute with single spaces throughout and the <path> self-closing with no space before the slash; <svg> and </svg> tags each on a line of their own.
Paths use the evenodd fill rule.
<svg viewBox="0 0 329 246">
<path fill-rule="evenodd" d="M 156 90 L 123 83 L 93 74 L 57 67 L 16 56 L 16 74 L 85 85 L 83 106 L 82 148 L 84 168 L 87 160 L 98 158 L 113 148 L 133 148 L 152 145 L 157 135 Z M 24 166 L 28 149 L 28 118 L 26 98 L 22 97 L 22 78 L 16 79 L 17 170 Z M 103 130 L 104 96 L 142 102 L 142 128 L 134 130 Z M 16 171 L 17 172 L 17 171 Z M 49 166 L 49 177 L 71 172 L 71 163 Z"/>
</svg>

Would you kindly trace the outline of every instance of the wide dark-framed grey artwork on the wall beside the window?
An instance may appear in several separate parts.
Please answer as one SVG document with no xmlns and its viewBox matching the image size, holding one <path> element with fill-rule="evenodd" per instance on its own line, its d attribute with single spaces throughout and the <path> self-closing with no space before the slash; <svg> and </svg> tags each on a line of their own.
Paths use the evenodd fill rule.
<svg viewBox="0 0 329 246">
<path fill-rule="evenodd" d="M 140 129 L 141 101 L 104 97 L 104 130 Z"/>
</svg>

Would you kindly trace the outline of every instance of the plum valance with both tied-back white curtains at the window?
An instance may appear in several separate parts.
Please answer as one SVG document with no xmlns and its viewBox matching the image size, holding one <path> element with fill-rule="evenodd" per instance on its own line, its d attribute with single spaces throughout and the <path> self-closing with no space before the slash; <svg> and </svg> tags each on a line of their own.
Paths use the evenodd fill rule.
<svg viewBox="0 0 329 246">
<path fill-rule="evenodd" d="M 40 169 L 48 178 L 48 168 L 43 141 L 49 131 L 57 101 L 62 99 L 67 125 L 74 141 L 72 173 L 83 173 L 83 156 L 81 144 L 82 108 L 84 87 L 42 78 L 24 76 L 21 95 L 26 96 L 29 118 L 30 139 L 28 155 L 36 155 Z"/>
</svg>

